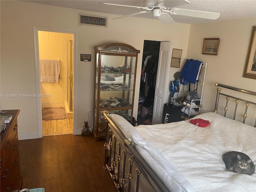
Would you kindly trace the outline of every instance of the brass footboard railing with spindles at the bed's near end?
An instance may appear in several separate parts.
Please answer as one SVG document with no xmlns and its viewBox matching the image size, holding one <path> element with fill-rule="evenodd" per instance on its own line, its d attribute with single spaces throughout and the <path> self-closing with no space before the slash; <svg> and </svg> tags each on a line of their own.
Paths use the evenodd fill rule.
<svg viewBox="0 0 256 192">
<path fill-rule="evenodd" d="M 112 180 L 114 181 L 114 184 L 118 191 L 124 192 L 124 184 L 125 180 L 127 178 L 128 180 L 128 192 L 131 191 L 131 180 L 136 178 L 136 192 L 139 190 L 139 183 L 140 183 L 140 174 L 142 173 L 146 180 L 148 180 L 148 183 L 154 188 L 155 191 L 161 191 L 161 192 L 170 192 L 168 188 L 165 186 L 165 184 L 162 182 L 162 180 L 156 175 L 156 173 L 152 170 L 152 168 L 146 163 L 146 161 L 140 156 L 136 148 L 132 145 L 132 141 L 128 140 L 122 131 L 120 131 L 120 128 L 118 128 L 118 125 L 116 125 L 111 118 L 107 116 L 108 111 L 103 110 L 102 115 L 106 118 L 106 138 L 105 138 L 105 162 L 104 162 L 104 168 L 108 170 L 110 173 L 110 176 Z M 117 137 L 120 138 L 120 141 L 117 141 Z M 114 145 L 114 148 L 113 146 Z M 109 146 L 109 147 L 108 147 Z M 124 162 L 123 162 L 123 172 L 120 172 L 120 156 L 121 156 L 121 147 L 124 147 L 123 155 L 124 155 Z M 118 148 L 118 149 L 117 149 Z M 114 150 L 114 151 L 112 151 Z M 111 154 L 113 153 L 113 158 L 111 157 Z M 110 157 L 109 157 L 110 154 Z M 130 158 L 128 160 L 128 163 L 130 164 L 130 170 L 128 174 L 125 173 L 126 169 L 126 155 L 129 155 Z M 117 162 L 117 178 L 115 176 L 116 171 L 116 162 Z M 136 164 L 136 174 L 137 176 L 132 176 L 132 166 L 133 163 Z M 122 179 L 120 179 L 120 174 L 122 176 Z M 154 184 L 152 184 L 154 182 Z M 157 188 L 156 188 L 157 187 Z"/>
</svg>

